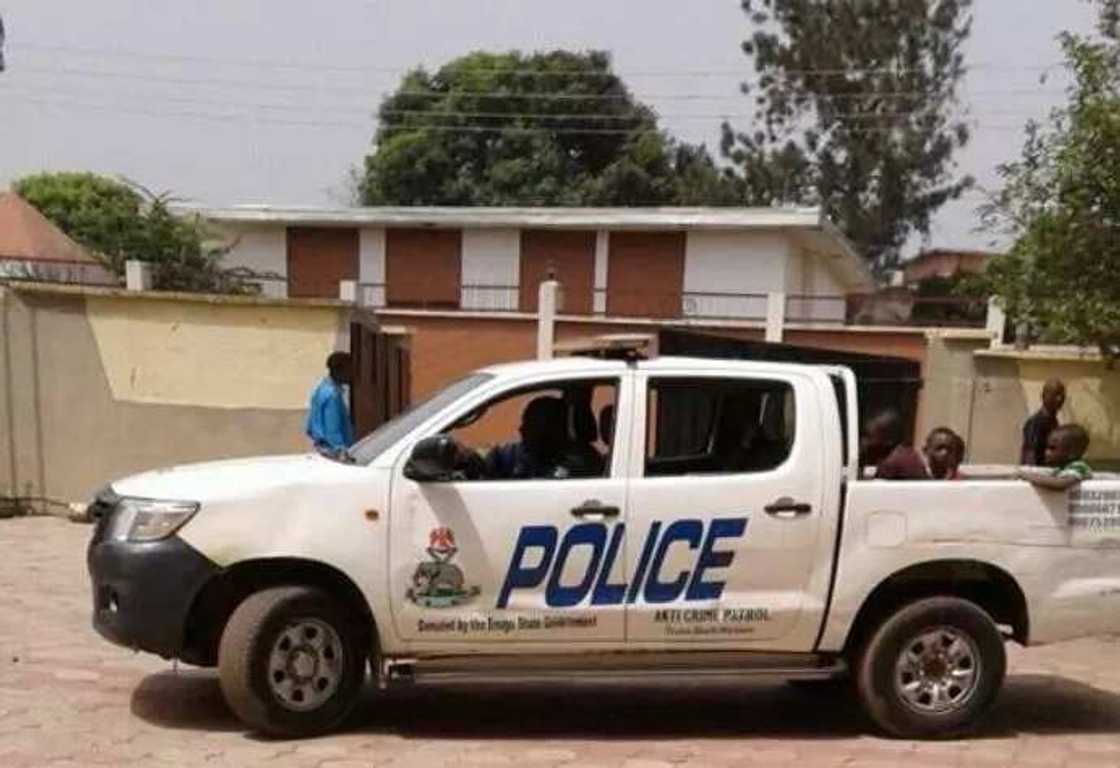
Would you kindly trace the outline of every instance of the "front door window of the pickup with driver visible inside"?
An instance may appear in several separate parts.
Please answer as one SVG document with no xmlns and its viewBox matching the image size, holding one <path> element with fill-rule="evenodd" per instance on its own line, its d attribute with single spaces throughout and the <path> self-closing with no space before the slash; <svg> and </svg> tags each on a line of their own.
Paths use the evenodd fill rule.
<svg viewBox="0 0 1120 768">
<path fill-rule="evenodd" d="M 467 479 L 606 477 L 617 380 L 572 380 L 507 392 L 442 432 L 469 456 Z"/>
</svg>

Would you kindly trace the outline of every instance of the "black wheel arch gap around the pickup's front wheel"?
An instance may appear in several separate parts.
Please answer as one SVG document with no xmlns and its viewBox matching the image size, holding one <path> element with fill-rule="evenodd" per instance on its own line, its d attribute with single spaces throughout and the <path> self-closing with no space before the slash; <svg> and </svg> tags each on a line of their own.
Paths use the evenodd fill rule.
<svg viewBox="0 0 1120 768">
<path fill-rule="evenodd" d="M 222 633 L 233 610 L 253 592 L 271 587 L 315 587 L 337 599 L 354 617 L 364 645 L 375 653 L 379 636 L 373 612 L 354 581 L 333 565 L 305 558 L 261 558 L 223 569 L 195 596 L 183 630 L 179 657 L 215 666 Z"/>
</svg>

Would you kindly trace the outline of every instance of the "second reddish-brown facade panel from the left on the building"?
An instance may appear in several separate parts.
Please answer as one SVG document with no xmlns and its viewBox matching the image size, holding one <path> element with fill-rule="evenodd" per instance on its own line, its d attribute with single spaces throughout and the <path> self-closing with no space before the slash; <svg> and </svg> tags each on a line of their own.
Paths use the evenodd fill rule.
<svg viewBox="0 0 1120 768">
<path fill-rule="evenodd" d="M 385 232 L 385 297 L 390 307 L 457 308 L 463 274 L 458 230 Z"/>
</svg>

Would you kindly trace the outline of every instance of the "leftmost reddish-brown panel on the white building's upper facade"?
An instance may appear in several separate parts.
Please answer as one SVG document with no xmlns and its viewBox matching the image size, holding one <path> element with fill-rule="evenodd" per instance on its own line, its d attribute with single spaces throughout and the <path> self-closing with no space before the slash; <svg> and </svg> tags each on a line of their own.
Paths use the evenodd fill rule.
<svg viewBox="0 0 1120 768">
<path fill-rule="evenodd" d="M 337 299 L 340 280 L 357 280 L 357 230 L 288 227 L 288 296 Z"/>
</svg>

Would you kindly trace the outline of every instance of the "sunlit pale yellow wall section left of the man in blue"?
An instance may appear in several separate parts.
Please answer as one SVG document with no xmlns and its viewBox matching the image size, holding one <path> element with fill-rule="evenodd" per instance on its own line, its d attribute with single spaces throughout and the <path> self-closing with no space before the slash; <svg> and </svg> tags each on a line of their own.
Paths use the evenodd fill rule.
<svg viewBox="0 0 1120 768">
<path fill-rule="evenodd" d="M 330 307 L 87 297 L 86 315 L 118 401 L 302 409 L 339 344 Z"/>
</svg>

